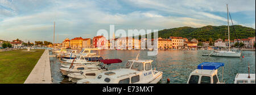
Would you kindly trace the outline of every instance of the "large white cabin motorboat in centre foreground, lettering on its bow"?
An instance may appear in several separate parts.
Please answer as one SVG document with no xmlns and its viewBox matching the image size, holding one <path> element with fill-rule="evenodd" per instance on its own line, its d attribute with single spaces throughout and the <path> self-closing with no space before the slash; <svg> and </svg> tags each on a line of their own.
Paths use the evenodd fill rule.
<svg viewBox="0 0 256 95">
<path fill-rule="evenodd" d="M 128 60 L 125 68 L 102 72 L 95 79 L 82 79 L 77 84 L 156 84 L 163 72 L 152 70 L 153 60 Z"/>
</svg>

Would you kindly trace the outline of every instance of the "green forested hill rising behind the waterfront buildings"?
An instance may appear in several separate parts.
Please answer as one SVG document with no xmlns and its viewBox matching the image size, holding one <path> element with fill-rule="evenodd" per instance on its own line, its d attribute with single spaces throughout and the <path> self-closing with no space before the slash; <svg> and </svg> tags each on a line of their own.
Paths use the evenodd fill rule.
<svg viewBox="0 0 256 95">
<path fill-rule="evenodd" d="M 238 39 L 249 38 L 255 36 L 255 29 L 250 27 L 244 27 L 240 25 L 234 26 Z M 230 40 L 236 39 L 233 31 L 233 26 L 229 26 Z M 153 34 L 152 34 L 153 36 Z M 212 38 L 216 40 L 218 38 L 228 39 L 228 26 L 204 26 L 200 28 L 193 27 L 179 27 L 164 29 L 158 32 L 158 37 L 169 38 L 170 36 L 181 36 L 188 38 L 189 40 L 196 38 L 200 41 L 209 40 Z"/>
</svg>

